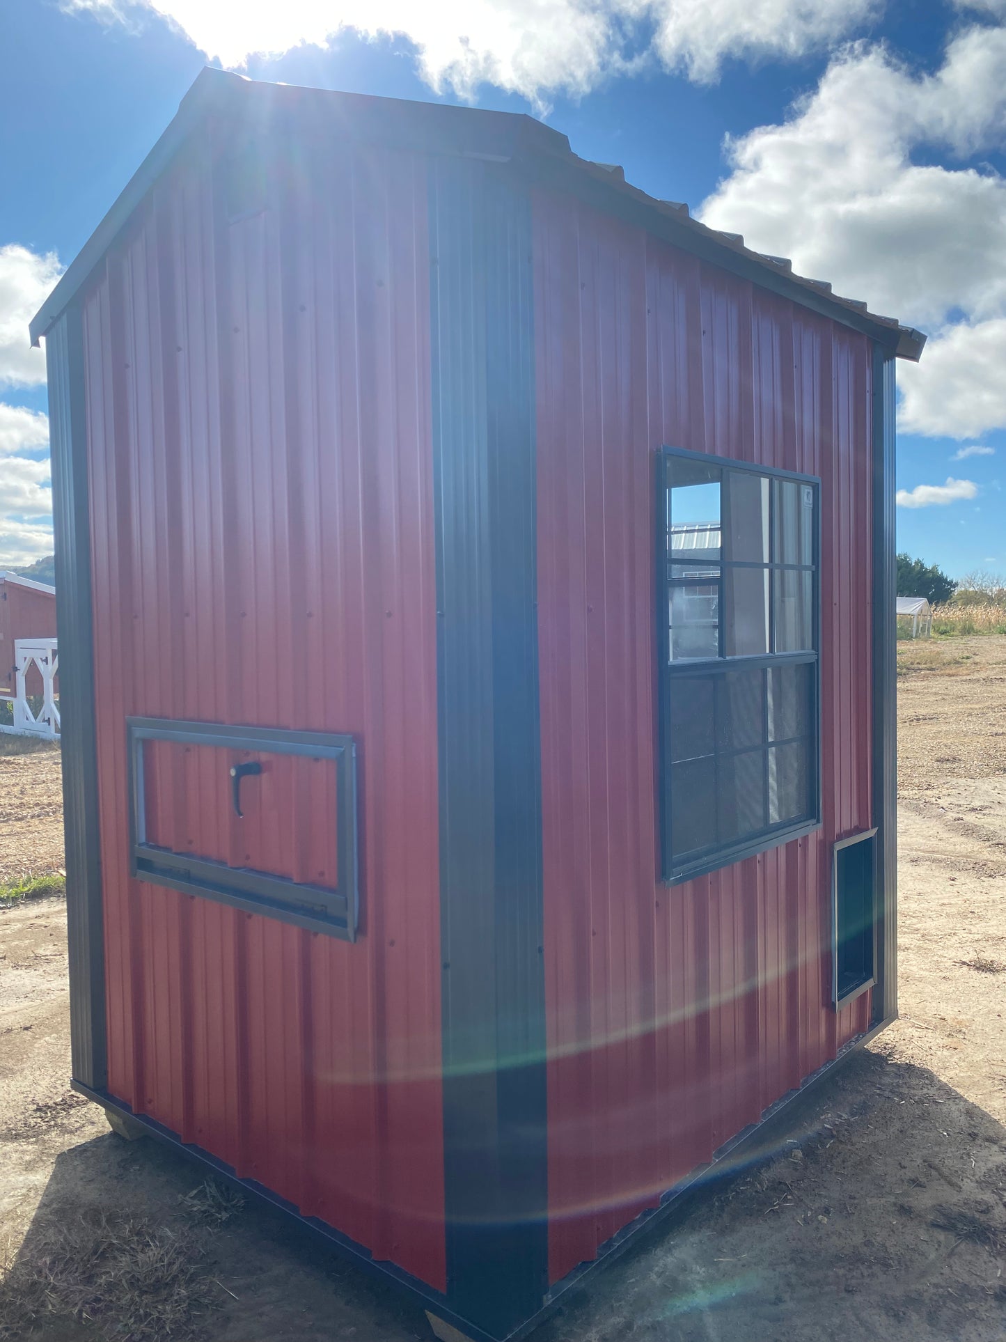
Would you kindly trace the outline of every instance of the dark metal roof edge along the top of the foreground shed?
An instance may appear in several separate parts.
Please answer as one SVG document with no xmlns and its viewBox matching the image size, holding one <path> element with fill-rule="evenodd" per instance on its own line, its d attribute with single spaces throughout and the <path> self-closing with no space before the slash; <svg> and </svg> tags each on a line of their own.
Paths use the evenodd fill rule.
<svg viewBox="0 0 1006 1342">
<path fill-rule="evenodd" d="M 793 263 L 785 256 L 757 252 L 738 234 L 719 232 L 692 219 L 687 205 L 648 196 L 625 181 L 620 166 L 579 158 L 566 136 L 533 117 L 260 83 L 209 67 L 185 94 L 172 123 L 36 313 L 30 327 L 32 344 L 38 345 L 86 283 L 133 211 L 204 118 L 219 115 L 245 123 L 255 118 L 262 123 L 266 111 L 341 137 L 512 162 L 531 180 L 570 191 L 751 283 L 862 331 L 899 358 L 916 361 L 926 344 L 920 331 L 899 325 L 893 317 L 871 313 L 862 301 L 841 298 L 824 280 L 794 275 Z"/>
</svg>

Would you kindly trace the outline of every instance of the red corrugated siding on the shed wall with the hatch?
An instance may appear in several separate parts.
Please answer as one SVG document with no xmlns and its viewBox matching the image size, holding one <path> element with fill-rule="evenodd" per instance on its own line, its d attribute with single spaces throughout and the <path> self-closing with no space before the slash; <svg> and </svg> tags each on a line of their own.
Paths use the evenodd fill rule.
<svg viewBox="0 0 1006 1342">
<path fill-rule="evenodd" d="M 274 144 L 231 224 L 209 165 L 85 307 L 109 1090 L 443 1288 L 424 165 Z M 355 945 L 129 879 L 131 714 L 358 738 Z M 166 785 L 227 852 L 221 773 Z"/>
</svg>

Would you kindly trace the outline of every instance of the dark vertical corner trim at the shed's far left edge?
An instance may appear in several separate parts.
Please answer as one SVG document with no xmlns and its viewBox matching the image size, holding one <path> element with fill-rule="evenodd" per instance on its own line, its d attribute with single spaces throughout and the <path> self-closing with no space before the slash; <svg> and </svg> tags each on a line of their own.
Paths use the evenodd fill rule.
<svg viewBox="0 0 1006 1342">
<path fill-rule="evenodd" d="M 70 1049 L 74 1079 L 106 1084 L 105 938 L 94 722 L 91 529 L 83 319 L 67 307 L 46 338 L 63 747 Z"/>
</svg>

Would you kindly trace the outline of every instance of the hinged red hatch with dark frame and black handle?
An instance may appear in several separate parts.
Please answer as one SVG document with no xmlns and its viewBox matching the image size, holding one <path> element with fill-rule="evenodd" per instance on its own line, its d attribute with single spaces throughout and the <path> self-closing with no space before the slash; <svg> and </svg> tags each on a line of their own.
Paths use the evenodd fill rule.
<svg viewBox="0 0 1006 1342">
<path fill-rule="evenodd" d="M 353 737 L 127 718 L 133 875 L 355 941 Z"/>
</svg>

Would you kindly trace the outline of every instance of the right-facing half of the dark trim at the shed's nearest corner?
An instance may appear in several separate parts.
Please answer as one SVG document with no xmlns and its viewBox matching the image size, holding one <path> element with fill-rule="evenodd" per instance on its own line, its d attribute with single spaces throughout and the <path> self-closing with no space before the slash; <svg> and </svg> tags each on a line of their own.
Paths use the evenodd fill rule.
<svg viewBox="0 0 1006 1342">
<path fill-rule="evenodd" d="M 547 1290 L 547 1096 L 531 204 L 484 174 L 498 1114 L 504 1319 Z"/>
</svg>

